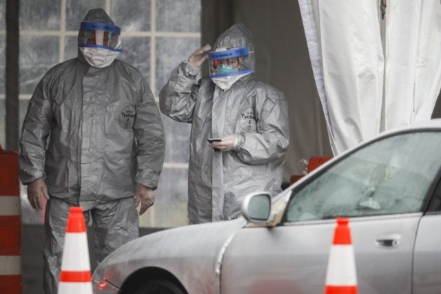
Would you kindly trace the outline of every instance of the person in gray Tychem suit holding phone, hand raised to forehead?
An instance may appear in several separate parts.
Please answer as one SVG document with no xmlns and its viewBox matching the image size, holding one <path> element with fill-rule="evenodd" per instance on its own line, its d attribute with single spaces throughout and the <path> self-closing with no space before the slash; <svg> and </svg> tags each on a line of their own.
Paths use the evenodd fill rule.
<svg viewBox="0 0 441 294">
<path fill-rule="evenodd" d="M 194 224 L 237 218 L 252 191 L 280 192 L 289 144 L 287 102 L 256 81 L 249 29 L 233 25 L 210 49 L 183 61 L 159 94 L 161 112 L 192 124 L 188 217 Z M 201 78 L 207 57 L 210 78 Z"/>
</svg>

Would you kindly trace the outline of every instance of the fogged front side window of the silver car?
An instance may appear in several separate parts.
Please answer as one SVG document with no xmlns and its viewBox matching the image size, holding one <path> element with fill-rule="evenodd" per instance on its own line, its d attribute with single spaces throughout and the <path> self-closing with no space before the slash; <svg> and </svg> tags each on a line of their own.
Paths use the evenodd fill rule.
<svg viewBox="0 0 441 294">
<path fill-rule="evenodd" d="M 293 193 L 285 220 L 420 211 L 441 166 L 441 133 L 384 138 L 342 158 Z"/>
</svg>

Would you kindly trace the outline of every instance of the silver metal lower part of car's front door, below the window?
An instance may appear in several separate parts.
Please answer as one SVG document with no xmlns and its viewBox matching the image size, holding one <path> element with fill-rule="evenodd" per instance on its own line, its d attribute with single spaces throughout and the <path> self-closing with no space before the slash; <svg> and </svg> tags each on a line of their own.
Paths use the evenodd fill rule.
<svg viewBox="0 0 441 294">
<path fill-rule="evenodd" d="M 413 244 L 421 213 L 353 218 L 360 293 L 411 293 Z M 227 247 L 221 293 L 323 293 L 335 220 L 240 230 Z M 378 246 L 378 238 L 399 238 Z"/>
</svg>

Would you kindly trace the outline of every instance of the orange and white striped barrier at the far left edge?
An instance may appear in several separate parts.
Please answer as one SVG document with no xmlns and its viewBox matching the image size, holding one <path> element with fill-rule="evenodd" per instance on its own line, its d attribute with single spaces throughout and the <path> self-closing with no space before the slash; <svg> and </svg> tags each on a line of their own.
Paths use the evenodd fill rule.
<svg viewBox="0 0 441 294">
<path fill-rule="evenodd" d="M 0 146 L 0 293 L 21 294 L 19 155 Z"/>
</svg>

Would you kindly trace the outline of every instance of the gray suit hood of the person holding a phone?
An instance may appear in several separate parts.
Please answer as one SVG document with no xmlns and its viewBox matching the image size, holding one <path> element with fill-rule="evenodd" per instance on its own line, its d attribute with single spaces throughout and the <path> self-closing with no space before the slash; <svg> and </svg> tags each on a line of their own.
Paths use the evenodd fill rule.
<svg viewBox="0 0 441 294">
<path fill-rule="evenodd" d="M 243 48 L 247 47 L 249 56 L 240 57 L 239 70 L 245 68 L 255 72 L 256 58 L 254 55 L 254 42 L 252 32 L 243 23 L 236 23 L 231 28 L 223 32 L 214 43 L 214 50 L 219 48 Z"/>
</svg>

